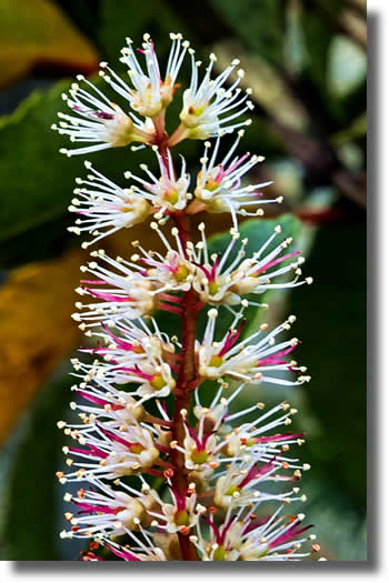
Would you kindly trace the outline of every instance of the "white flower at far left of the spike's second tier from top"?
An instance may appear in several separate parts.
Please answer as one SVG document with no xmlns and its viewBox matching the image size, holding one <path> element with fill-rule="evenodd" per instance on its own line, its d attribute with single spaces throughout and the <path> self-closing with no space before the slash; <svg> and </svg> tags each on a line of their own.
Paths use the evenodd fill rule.
<svg viewBox="0 0 389 583">
<path fill-rule="evenodd" d="M 78 235 L 83 232 L 91 234 L 92 240 L 81 245 L 87 249 L 120 229 L 144 221 L 152 209 L 143 197 L 118 187 L 94 170 L 90 162 L 84 162 L 84 165 L 92 173 L 88 175 L 88 180 L 76 179 L 79 184 L 73 191 L 77 198 L 72 199 L 69 211 L 76 212 L 78 219 L 68 231 Z"/>
</svg>

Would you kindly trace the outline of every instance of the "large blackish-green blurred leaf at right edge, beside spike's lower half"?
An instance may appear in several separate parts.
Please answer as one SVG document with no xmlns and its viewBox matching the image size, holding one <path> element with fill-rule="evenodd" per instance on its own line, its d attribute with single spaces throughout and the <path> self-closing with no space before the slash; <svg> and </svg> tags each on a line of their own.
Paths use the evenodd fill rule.
<svg viewBox="0 0 389 583">
<path fill-rule="evenodd" d="M 305 265 L 313 285 L 292 291 L 301 360 L 312 381 L 305 389 L 319 421 L 306 445 L 316 478 L 366 510 L 366 227 L 329 223 L 316 237 Z M 302 418 L 302 415 L 300 415 Z M 300 424 L 303 419 L 297 419 Z"/>
</svg>

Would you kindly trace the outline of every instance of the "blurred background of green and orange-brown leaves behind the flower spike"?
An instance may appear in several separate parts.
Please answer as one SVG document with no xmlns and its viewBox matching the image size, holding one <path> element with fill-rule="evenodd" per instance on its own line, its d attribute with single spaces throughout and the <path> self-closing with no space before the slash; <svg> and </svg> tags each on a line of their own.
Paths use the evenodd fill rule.
<svg viewBox="0 0 389 583">
<path fill-rule="evenodd" d="M 299 360 L 312 381 L 287 395 L 265 388 L 261 400 L 287 396 L 300 411 L 300 453 L 312 466 L 303 512 L 321 554 L 366 560 L 363 0 L 0 0 L 0 559 L 73 560 L 82 550 L 59 540 L 63 487 L 53 474 L 63 468 L 56 422 L 69 419 L 68 360 L 81 342 L 70 313 L 86 255 L 66 228 L 83 159 L 60 155 L 66 137 L 50 125 L 74 74 L 96 76 L 100 60 L 124 72 L 114 66 L 124 38 L 140 44 L 146 31 L 161 60 L 168 33 L 180 31 L 198 58 L 216 52 L 221 70 L 238 57 L 246 70 L 256 110 L 245 148 L 267 158 L 250 179 L 273 180 L 268 191 L 285 197 L 263 225 L 282 221 L 315 279 L 273 293 L 267 314 L 298 315 Z M 196 168 L 202 145 L 180 150 Z M 117 149 L 93 162 L 120 183 L 147 155 Z M 229 229 L 211 217 L 212 232 Z M 256 229 L 245 229 L 256 248 Z M 112 238 L 106 250 L 128 240 Z"/>
</svg>

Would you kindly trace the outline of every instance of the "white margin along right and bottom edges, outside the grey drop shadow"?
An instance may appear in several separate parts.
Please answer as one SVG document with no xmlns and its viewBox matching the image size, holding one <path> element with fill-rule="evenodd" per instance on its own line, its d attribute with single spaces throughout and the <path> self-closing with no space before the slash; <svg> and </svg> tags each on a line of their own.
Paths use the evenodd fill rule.
<svg viewBox="0 0 389 583">
<path fill-rule="evenodd" d="M 239 0 L 237 0 L 239 1 Z M 259 0 L 260 1 L 260 0 Z M 389 354 L 388 342 L 385 344 L 385 341 L 388 339 L 386 331 L 389 328 L 389 153 L 385 149 L 385 138 L 389 135 L 389 0 L 369 0 L 368 2 L 369 14 L 376 21 L 373 27 L 377 39 L 371 39 L 372 44 L 377 40 L 377 52 L 372 54 L 369 51 L 369 77 L 371 76 L 369 83 L 377 89 L 376 96 L 372 96 L 370 102 L 370 108 L 373 104 L 378 105 L 378 112 L 376 112 L 372 118 L 377 119 L 377 127 L 375 128 L 373 123 L 369 124 L 370 132 L 376 130 L 376 135 L 370 135 L 370 141 L 375 144 L 370 149 L 370 155 L 377 160 L 370 159 L 370 173 L 375 171 L 375 174 L 371 177 L 369 184 L 376 185 L 376 193 L 370 193 L 370 255 L 371 252 L 376 253 L 375 257 L 370 257 L 371 265 L 376 265 L 376 269 L 370 268 L 370 281 L 369 284 L 372 287 L 373 282 L 371 278 L 377 279 L 376 285 L 378 290 L 376 293 L 370 289 L 370 303 L 375 300 L 378 300 L 379 305 L 377 309 L 377 330 L 371 330 L 371 334 L 376 336 L 376 341 L 372 342 L 378 346 L 378 354 L 371 354 L 370 366 L 377 370 L 370 370 L 373 380 L 379 383 L 380 380 L 383 381 L 385 378 L 385 366 L 387 363 Z M 369 118 L 370 119 L 370 118 Z M 386 188 L 382 188 L 382 187 Z M 352 252 L 352 241 L 350 241 L 349 248 L 340 249 L 345 261 L 347 261 L 347 254 Z M 361 258 L 365 261 L 365 258 Z M 358 277 L 358 274 L 356 274 Z M 339 282 L 341 285 L 341 282 Z M 371 310 L 372 309 L 372 310 Z M 375 312 L 373 306 L 370 306 L 370 312 Z M 382 325 L 383 322 L 383 325 Z M 372 325 L 375 322 L 370 322 Z M 378 338 L 377 338 L 378 334 Z M 373 390 L 372 386 L 369 386 L 369 390 Z M 36 564 L 36 569 L 32 566 L 29 571 L 27 565 L 19 567 L 17 563 L 11 563 L 8 561 L 0 562 L 0 580 L 1 583 L 7 583 L 8 581 L 42 581 L 42 580 L 58 580 L 58 581 L 71 581 L 71 583 L 92 581 L 98 579 L 99 581 L 107 580 L 110 583 L 116 583 L 117 581 L 128 581 L 128 582 L 138 582 L 147 583 L 148 580 L 160 581 L 181 581 L 182 583 L 198 583 L 199 577 L 221 580 L 240 580 L 239 583 L 246 583 L 248 580 L 256 580 L 262 583 L 263 581 L 275 581 L 278 577 L 280 580 L 297 581 L 299 579 L 341 579 L 342 581 L 353 581 L 357 580 L 375 580 L 375 581 L 387 581 L 389 573 L 389 458 L 387 455 L 388 444 L 389 444 L 389 432 L 388 432 L 388 420 L 387 411 L 389 411 L 389 386 L 382 386 L 381 391 L 378 391 L 376 388 L 377 394 L 376 400 L 379 403 L 376 408 L 370 409 L 370 439 L 373 439 L 373 429 L 379 425 L 379 431 L 377 432 L 377 444 L 370 443 L 370 456 L 376 460 L 375 466 L 372 470 L 379 474 L 379 486 L 376 484 L 377 474 L 370 476 L 370 499 L 378 496 L 378 502 L 372 504 L 377 511 L 376 516 L 370 516 L 369 531 L 370 535 L 372 531 L 376 530 L 377 534 L 372 536 L 372 542 L 375 549 L 371 549 L 372 556 L 377 561 L 377 564 L 365 565 L 359 563 L 356 565 L 343 563 L 339 565 L 336 570 L 336 564 L 330 563 L 318 563 L 310 565 L 309 569 L 300 569 L 300 565 L 296 565 L 297 569 L 293 569 L 292 564 L 285 565 L 288 569 L 281 569 L 281 565 L 275 567 L 271 572 L 269 570 L 262 571 L 261 569 L 250 569 L 249 571 L 241 565 L 241 570 L 237 570 L 229 565 L 223 565 L 223 569 L 218 571 L 213 569 L 191 569 L 189 565 L 186 565 L 184 569 L 180 569 L 179 565 L 176 565 L 177 569 L 171 569 L 166 571 L 163 569 L 158 569 L 157 565 L 152 565 L 156 569 L 131 569 L 130 565 L 127 565 L 126 571 L 120 569 L 118 570 L 119 564 L 114 563 L 113 566 L 108 570 L 109 565 L 102 565 L 101 563 L 84 563 L 74 565 L 69 563 L 40 563 Z M 377 419 L 376 419 L 377 415 Z M 376 445 L 379 445 L 379 451 L 376 451 Z M 373 524 L 377 521 L 378 524 Z M 28 524 L 26 524 L 28 527 Z M 37 567 L 40 566 L 38 570 Z M 183 565 L 182 565 L 183 566 Z M 302 565 L 303 566 L 303 565 Z M 308 566 L 308 565 L 306 565 Z M 84 569 L 83 569 L 84 567 Z M 92 567 L 92 569 L 91 569 Z"/>
</svg>

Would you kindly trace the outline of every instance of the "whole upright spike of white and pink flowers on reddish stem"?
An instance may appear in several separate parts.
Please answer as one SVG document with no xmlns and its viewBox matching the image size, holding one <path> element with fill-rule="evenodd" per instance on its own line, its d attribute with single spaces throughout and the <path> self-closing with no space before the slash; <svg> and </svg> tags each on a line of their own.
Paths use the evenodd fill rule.
<svg viewBox="0 0 389 583">
<path fill-rule="evenodd" d="M 102 79 L 129 112 L 80 78 L 88 89 L 72 86 L 63 96 L 72 113 L 60 113 L 53 127 L 90 143 L 63 150 L 68 155 L 139 142 L 157 157 L 158 173 L 141 164 L 143 175 L 124 172 L 126 188 L 86 162 L 88 174 L 76 180 L 69 208 L 77 214 L 69 230 L 88 235 L 82 247 L 149 219 L 160 240 L 158 250 L 132 241 L 117 258 L 94 249 L 81 267 L 82 301 L 72 318 L 88 341 L 72 360 L 70 408 L 78 419 L 58 422 L 69 438 L 69 470 L 57 473 L 62 484 L 80 486 L 64 494 L 72 510 L 61 537 L 89 540 L 84 561 L 107 553 L 124 561 L 297 561 L 320 550 L 305 516 L 286 511 L 306 500 L 297 482 L 309 465 L 290 453 L 303 443 L 289 429 L 297 411 L 287 402 L 269 409 L 240 403 L 248 388 L 256 395 L 258 385 L 296 386 L 310 378 L 291 358 L 299 344 L 289 334 L 295 315 L 247 333 L 245 313 L 267 308 L 258 298 L 265 292 L 311 279 L 302 278 L 303 258 L 280 227 L 247 257 L 238 217 L 260 215 L 263 203 L 279 200 L 261 198 L 269 183 L 243 182 L 262 160 L 236 155 L 243 130 L 219 155 L 221 135 L 248 125 L 241 114 L 252 109 L 250 91 L 239 88 L 243 71 L 230 82 L 238 61 L 212 78 L 211 54 L 199 79 L 201 63 L 189 42 L 176 33 L 171 40 L 164 74 L 148 34 L 141 57 L 131 40 L 122 50 L 130 84 L 101 63 Z M 187 56 L 190 84 L 169 137 L 166 112 Z M 184 160 L 176 170 L 171 150 L 184 139 L 206 140 L 196 180 Z M 191 237 L 190 219 L 202 211 L 231 215 L 221 253 L 211 251 L 205 223 Z M 163 331 L 163 312 L 176 319 L 176 335 Z"/>
</svg>

